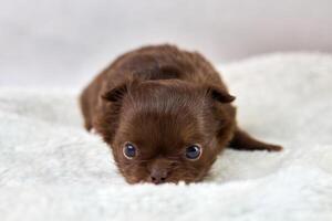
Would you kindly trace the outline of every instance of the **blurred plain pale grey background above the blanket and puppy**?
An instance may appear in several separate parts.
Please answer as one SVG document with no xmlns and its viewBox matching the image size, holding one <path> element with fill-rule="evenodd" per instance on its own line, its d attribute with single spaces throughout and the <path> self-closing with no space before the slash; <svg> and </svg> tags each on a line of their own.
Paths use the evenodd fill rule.
<svg viewBox="0 0 332 221">
<path fill-rule="evenodd" d="M 215 63 L 332 51 L 331 0 L 0 0 L 0 86 L 82 86 L 148 43 Z"/>
</svg>

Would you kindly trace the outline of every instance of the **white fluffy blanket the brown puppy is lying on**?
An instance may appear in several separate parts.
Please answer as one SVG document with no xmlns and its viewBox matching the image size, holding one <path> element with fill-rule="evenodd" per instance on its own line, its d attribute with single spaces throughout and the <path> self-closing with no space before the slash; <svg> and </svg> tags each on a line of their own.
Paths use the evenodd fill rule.
<svg viewBox="0 0 332 221">
<path fill-rule="evenodd" d="M 227 150 L 210 180 L 126 185 L 77 91 L 0 90 L 0 220 L 332 220 L 332 55 L 221 67 L 239 122 L 282 152 Z"/>
</svg>

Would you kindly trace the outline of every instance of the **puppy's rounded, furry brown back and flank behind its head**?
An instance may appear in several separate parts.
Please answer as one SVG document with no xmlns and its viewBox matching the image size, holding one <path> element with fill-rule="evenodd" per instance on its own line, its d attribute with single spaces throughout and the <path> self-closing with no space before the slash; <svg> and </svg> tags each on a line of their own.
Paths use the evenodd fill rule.
<svg viewBox="0 0 332 221">
<path fill-rule="evenodd" d="M 120 56 L 85 88 L 82 110 L 85 127 L 93 127 L 96 113 L 103 105 L 100 99 L 110 90 L 132 80 L 181 80 L 185 82 L 218 85 L 227 90 L 218 72 L 198 53 L 179 51 L 175 46 L 146 46 Z"/>
</svg>

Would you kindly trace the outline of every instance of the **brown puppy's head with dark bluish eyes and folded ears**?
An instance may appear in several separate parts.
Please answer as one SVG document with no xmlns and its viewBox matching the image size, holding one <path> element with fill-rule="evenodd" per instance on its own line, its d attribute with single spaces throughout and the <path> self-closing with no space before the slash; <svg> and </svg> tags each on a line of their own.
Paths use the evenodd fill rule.
<svg viewBox="0 0 332 221">
<path fill-rule="evenodd" d="M 103 95 L 96 129 L 129 183 L 196 182 L 229 141 L 235 97 L 178 80 L 131 82 Z"/>
</svg>

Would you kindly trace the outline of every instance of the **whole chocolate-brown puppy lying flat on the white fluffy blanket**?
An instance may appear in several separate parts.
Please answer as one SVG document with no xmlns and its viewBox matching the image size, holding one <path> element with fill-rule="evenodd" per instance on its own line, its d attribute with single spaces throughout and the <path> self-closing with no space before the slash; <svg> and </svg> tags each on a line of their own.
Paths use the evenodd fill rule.
<svg viewBox="0 0 332 221">
<path fill-rule="evenodd" d="M 120 56 L 84 90 L 81 106 L 127 182 L 188 183 L 203 180 L 226 146 L 281 150 L 237 127 L 234 99 L 200 54 L 158 45 Z"/>
</svg>

